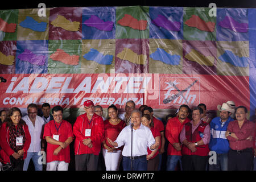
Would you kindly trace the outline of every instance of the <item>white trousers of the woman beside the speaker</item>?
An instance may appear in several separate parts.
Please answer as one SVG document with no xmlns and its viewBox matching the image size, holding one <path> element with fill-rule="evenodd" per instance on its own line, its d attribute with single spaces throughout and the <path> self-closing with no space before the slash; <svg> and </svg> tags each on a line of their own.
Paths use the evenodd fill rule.
<svg viewBox="0 0 256 182">
<path fill-rule="evenodd" d="M 102 155 L 105 160 L 106 171 L 118 171 L 119 164 L 122 160 L 122 151 L 115 150 L 114 152 L 108 152 L 105 148 L 102 148 Z"/>
</svg>

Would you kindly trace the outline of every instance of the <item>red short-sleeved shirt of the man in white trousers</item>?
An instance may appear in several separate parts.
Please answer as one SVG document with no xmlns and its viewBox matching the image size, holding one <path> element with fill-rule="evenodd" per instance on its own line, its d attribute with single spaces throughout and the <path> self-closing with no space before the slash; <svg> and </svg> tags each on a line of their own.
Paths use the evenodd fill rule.
<svg viewBox="0 0 256 182">
<path fill-rule="evenodd" d="M 56 128 L 59 129 L 58 132 Z M 62 122 L 59 124 L 56 123 L 54 120 L 49 121 L 44 126 L 43 138 L 44 139 L 46 139 L 46 137 L 53 138 L 53 135 L 55 134 L 59 134 L 60 142 L 65 142 L 65 140 L 67 140 L 69 137 L 74 137 L 71 123 L 65 120 L 62 120 Z M 69 145 L 64 149 L 61 149 L 58 155 L 53 155 L 53 152 L 57 147 L 59 147 L 59 145 L 47 143 L 46 162 L 49 163 L 49 162 L 58 160 L 58 161 L 64 161 L 65 163 L 69 163 L 70 162 Z"/>
</svg>

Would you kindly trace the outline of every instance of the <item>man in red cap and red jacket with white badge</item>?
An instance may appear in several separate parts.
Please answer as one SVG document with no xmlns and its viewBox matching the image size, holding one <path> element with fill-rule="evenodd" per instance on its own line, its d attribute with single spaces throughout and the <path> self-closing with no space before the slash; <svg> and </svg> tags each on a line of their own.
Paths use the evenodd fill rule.
<svg viewBox="0 0 256 182">
<path fill-rule="evenodd" d="M 76 136 L 76 171 L 96 171 L 104 136 L 104 122 L 102 117 L 94 113 L 92 101 L 84 102 L 84 110 L 86 113 L 77 117 L 73 126 L 73 133 Z"/>
</svg>

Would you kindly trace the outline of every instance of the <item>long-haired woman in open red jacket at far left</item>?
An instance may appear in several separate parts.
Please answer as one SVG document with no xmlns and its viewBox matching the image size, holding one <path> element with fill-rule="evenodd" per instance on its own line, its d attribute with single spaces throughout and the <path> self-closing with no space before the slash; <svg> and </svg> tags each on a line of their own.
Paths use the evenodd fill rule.
<svg viewBox="0 0 256 182">
<path fill-rule="evenodd" d="M 18 107 L 10 109 L 0 129 L 0 155 L 3 163 L 11 163 L 13 171 L 23 171 L 24 159 L 30 147 L 31 137 Z"/>
</svg>

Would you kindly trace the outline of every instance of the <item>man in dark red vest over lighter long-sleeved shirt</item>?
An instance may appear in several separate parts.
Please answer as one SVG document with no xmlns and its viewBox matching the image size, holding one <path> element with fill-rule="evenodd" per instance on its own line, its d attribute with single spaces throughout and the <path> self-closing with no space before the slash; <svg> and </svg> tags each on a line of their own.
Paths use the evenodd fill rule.
<svg viewBox="0 0 256 182">
<path fill-rule="evenodd" d="M 204 111 L 195 107 L 192 111 L 192 121 L 185 123 L 180 141 L 182 167 L 184 171 L 205 171 L 208 162 L 210 126 L 201 121 Z"/>
</svg>

